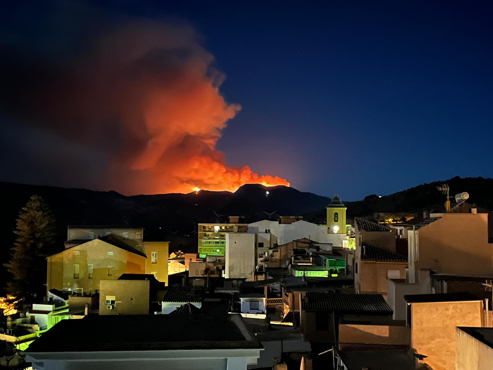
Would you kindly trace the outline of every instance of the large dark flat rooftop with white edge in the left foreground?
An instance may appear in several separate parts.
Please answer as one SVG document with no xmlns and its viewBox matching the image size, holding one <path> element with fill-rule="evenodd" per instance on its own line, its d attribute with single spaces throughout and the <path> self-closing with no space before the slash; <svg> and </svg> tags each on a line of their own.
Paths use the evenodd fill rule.
<svg viewBox="0 0 493 370">
<path fill-rule="evenodd" d="M 62 320 L 26 352 L 235 348 L 262 348 L 241 315 L 98 315 Z"/>
</svg>

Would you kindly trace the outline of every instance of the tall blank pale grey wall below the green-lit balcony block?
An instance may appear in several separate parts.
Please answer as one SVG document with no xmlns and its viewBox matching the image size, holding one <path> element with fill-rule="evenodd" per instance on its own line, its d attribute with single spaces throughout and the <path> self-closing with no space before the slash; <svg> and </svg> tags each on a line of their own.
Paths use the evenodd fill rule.
<svg viewBox="0 0 493 370">
<path fill-rule="evenodd" d="M 256 239 L 256 234 L 226 234 L 226 263 L 224 270 L 226 279 L 253 280 L 257 255 Z"/>
</svg>

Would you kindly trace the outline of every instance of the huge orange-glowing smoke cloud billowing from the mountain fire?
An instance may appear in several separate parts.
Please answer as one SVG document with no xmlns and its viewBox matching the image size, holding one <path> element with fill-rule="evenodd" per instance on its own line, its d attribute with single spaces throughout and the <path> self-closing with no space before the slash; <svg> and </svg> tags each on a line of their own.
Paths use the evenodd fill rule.
<svg viewBox="0 0 493 370">
<path fill-rule="evenodd" d="M 241 107 L 224 101 L 224 76 L 191 27 L 76 10 L 1 35 L 0 105 L 13 131 L 8 146 L 31 146 L 25 176 L 55 160 L 43 173 L 58 185 L 125 194 L 289 185 L 229 167 L 215 149 Z"/>
</svg>

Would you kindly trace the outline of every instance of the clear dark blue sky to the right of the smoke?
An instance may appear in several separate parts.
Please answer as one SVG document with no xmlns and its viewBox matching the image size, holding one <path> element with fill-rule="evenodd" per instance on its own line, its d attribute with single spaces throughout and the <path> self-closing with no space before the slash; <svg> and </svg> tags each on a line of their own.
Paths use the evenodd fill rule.
<svg viewBox="0 0 493 370">
<path fill-rule="evenodd" d="M 491 1 L 120 1 L 201 35 L 243 109 L 217 148 L 342 199 L 493 176 Z M 98 2 L 98 6 L 101 6 Z"/>
</svg>

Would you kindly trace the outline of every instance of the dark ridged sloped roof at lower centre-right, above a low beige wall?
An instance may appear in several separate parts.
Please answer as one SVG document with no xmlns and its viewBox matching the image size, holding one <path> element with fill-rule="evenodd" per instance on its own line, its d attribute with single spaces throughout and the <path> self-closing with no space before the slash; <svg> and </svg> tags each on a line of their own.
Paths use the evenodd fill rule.
<svg viewBox="0 0 493 370">
<path fill-rule="evenodd" d="M 309 311 L 336 311 L 363 315 L 393 313 L 381 294 L 307 292 L 302 306 Z"/>
</svg>

